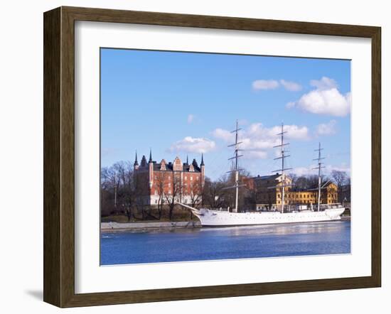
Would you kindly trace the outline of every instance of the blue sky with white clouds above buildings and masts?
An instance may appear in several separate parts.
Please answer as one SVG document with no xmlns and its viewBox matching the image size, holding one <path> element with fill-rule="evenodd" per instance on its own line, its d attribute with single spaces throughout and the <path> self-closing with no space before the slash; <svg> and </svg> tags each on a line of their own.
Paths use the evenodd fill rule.
<svg viewBox="0 0 391 314">
<path fill-rule="evenodd" d="M 101 161 L 190 161 L 204 153 L 205 173 L 230 168 L 236 119 L 240 166 L 252 175 L 274 161 L 282 122 L 288 166 L 311 174 L 320 141 L 326 172 L 350 171 L 350 61 L 254 55 L 101 49 Z"/>
</svg>

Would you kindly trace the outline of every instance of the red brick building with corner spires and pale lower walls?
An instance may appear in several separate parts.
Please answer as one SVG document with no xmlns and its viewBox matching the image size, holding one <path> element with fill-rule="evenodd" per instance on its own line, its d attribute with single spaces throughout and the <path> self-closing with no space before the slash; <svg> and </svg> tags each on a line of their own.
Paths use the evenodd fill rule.
<svg viewBox="0 0 391 314">
<path fill-rule="evenodd" d="M 134 161 L 134 183 L 139 202 L 144 205 L 159 205 L 167 203 L 173 197 L 177 202 L 196 205 L 201 202 L 201 194 L 205 184 L 205 164 L 203 155 L 198 166 L 193 159 L 192 163 L 182 163 L 179 157 L 173 162 L 162 159 L 160 163 L 149 161 L 142 156 L 140 164 Z"/>
</svg>

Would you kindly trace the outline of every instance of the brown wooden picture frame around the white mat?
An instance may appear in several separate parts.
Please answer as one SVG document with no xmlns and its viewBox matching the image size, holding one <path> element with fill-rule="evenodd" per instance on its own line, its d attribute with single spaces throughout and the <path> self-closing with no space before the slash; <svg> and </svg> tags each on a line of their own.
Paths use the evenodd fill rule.
<svg viewBox="0 0 391 314">
<path fill-rule="evenodd" d="M 372 40 L 372 274 L 143 291 L 75 293 L 75 21 L 351 36 Z M 379 287 L 381 284 L 381 30 L 373 26 L 60 7 L 44 13 L 44 291 L 59 307 Z"/>
</svg>

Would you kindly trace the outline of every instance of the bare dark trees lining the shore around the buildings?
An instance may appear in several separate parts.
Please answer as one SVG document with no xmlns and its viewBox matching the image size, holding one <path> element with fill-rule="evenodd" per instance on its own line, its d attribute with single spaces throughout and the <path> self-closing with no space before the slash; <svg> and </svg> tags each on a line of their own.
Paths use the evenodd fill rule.
<svg viewBox="0 0 391 314">
<path fill-rule="evenodd" d="M 308 189 L 318 184 L 317 175 L 294 175 L 290 174 L 294 188 Z M 240 180 L 250 178 L 246 170 L 240 172 Z M 350 178 L 344 171 L 333 170 L 330 177 L 324 176 L 322 182 L 331 180 L 338 187 L 338 202 L 350 200 Z M 223 175 L 218 180 L 205 178 L 202 189 L 197 190 L 200 197 L 192 204 L 193 207 L 205 206 L 209 208 L 233 208 L 235 207 L 235 189 L 228 187 L 234 185 L 232 175 Z M 145 184 L 144 184 L 145 185 Z M 348 189 L 346 187 L 348 186 Z M 228 189 L 227 189 L 228 188 Z M 344 191 L 345 190 L 345 191 Z M 348 191 L 348 192 L 347 192 Z M 178 190 L 176 195 L 180 195 Z M 162 201 L 157 205 L 145 205 L 140 202 L 140 195 L 146 195 L 145 190 L 140 190 L 134 184 L 132 163 L 120 161 L 111 167 L 101 170 L 101 215 L 102 221 L 105 217 L 122 217 L 122 222 L 137 220 L 192 220 L 194 217 L 190 210 L 186 210 L 169 199 L 168 195 L 161 195 Z M 257 204 L 256 188 L 243 187 L 239 193 L 239 208 L 242 210 L 253 210 Z M 166 202 L 164 202 L 166 198 Z"/>
</svg>

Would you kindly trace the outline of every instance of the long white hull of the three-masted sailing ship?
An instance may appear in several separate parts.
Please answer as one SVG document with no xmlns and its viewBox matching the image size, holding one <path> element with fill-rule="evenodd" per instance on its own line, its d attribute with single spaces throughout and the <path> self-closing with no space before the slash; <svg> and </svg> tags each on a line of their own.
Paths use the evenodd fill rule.
<svg viewBox="0 0 391 314">
<path fill-rule="evenodd" d="M 297 222 L 324 222 L 341 220 L 344 207 L 326 209 L 320 212 L 304 210 L 301 212 L 227 212 L 220 210 L 192 209 L 203 226 L 245 226 L 254 224 L 288 224 Z"/>
</svg>

